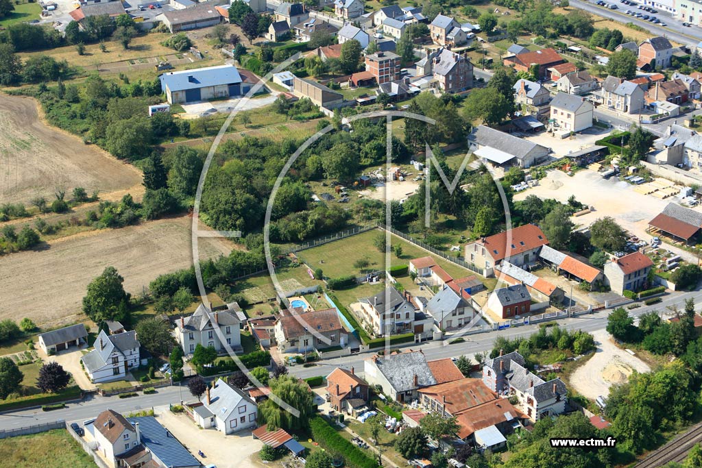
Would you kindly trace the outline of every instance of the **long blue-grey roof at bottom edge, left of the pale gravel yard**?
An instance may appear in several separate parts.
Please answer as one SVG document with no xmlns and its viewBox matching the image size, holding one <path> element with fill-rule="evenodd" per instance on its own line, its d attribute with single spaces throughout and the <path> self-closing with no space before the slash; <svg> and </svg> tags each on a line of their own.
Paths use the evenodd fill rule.
<svg viewBox="0 0 702 468">
<path fill-rule="evenodd" d="M 131 424 L 139 424 L 141 443 L 166 467 L 199 467 L 200 462 L 183 447 L 176 436 L 161 426 L 153 416 L 127 418 Z"/>
</svg>

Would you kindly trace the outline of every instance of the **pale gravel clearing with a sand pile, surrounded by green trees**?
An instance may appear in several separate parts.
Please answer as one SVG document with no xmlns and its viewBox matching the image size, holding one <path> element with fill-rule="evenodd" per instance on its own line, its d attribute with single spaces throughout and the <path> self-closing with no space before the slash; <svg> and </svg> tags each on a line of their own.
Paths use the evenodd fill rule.
<svg viewBox="0 0 702 468">
<path fill-rule="evenodd" d="M 634 370 L 640 373 L 651 370 L 648 364 L 637 356 L 616 347 L 607 331 L 597 330 L 592 335 L 597 343 L 595 356 L 577 368 L 570 377 L 570 385 L 578 393 L 593 400 L 600 395 L 607 397 L 609 387 L 626 382 Z"/>
</svg>

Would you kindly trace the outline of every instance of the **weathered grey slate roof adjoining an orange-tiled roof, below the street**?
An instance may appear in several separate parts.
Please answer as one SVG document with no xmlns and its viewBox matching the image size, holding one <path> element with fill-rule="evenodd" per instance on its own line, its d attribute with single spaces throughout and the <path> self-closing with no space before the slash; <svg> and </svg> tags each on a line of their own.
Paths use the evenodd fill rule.
<svg viewBox="0 0 702 468">
<path fill-rule="evenodd" d="M 423 352 L 410 351 L 371 358 L 396 392 L 437 385 Z M 417 376 L 417 386 L 414 376 Z"/>
</svg>

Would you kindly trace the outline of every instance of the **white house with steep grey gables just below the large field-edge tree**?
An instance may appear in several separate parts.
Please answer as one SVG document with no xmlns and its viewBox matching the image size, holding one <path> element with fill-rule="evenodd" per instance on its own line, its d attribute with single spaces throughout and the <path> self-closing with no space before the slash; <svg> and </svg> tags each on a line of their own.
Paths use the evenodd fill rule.
<svg viewBox="0 0 702 468">
<path fill-rule="evenodd" d="M 107 382 L 124 378 L 131 369 L 138 368 L 139 342 L 135 331 L 107 335 L 105 330 L 95 340 L 93 351 L 81 358 L 92 382 Z"/>
</svg>

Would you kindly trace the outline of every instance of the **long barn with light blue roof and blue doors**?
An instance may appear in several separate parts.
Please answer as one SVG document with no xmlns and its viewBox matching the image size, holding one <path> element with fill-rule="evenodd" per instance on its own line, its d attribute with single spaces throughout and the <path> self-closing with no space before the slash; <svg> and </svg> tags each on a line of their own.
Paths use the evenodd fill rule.
<svg viewBox="0 0 702 468">
<path fill-rule="evenodd" d="M 159 79 L 169 104 L 214 98 L 238 98 L 246 93 L 241 86 L 244 80 L 233 65 L 168 72 L 162 74 Z"/>
</svg>

